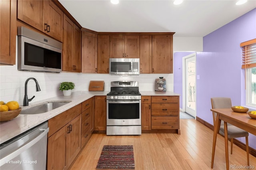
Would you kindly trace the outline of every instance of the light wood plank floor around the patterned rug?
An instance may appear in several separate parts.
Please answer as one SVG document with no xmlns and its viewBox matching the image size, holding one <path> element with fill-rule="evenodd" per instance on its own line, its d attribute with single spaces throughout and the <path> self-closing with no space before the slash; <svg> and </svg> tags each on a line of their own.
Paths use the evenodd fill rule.
<svg viewBox="0 0 256 170">
<path fill-rule="evenodd" d="M 71 170 L 95 170 L 103 145 L 133 145 L 135 170 L 211 169 L 213 131 L 194 119 L 180 119 L 180 130 L 180 135 L 168 133 L 143 133 L 140 136 L 92 134 Z M 232 155 L 229 151 L 229 164 L 246 166 L 246 152 L 234 145 Z M 256 157 L 251 154 L 250 165 L 256 169 Z M 224 137 L 220 135 L 217 137 L 213 169 L 226 169 Z"/>
</svg>

